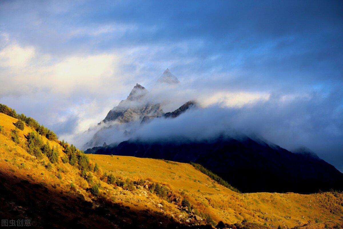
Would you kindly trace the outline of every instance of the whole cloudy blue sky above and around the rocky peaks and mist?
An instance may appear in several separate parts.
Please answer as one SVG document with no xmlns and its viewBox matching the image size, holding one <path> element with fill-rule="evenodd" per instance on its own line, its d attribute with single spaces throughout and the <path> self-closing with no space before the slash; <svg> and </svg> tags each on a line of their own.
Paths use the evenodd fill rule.
<svg viewBox="0 0 343 229">
<path fill-rule="evenodd" d="M 0 103 L 72 139 L 169 68 L 240 128 L 343 171 L 342 4 L 2 0 Z"/>
</svg>

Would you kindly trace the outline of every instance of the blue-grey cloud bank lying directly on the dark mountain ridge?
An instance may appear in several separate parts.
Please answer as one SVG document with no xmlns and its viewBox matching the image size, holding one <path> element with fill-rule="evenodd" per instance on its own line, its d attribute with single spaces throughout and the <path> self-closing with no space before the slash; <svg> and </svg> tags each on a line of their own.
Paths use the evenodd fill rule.
<svg viewBox="0 0 343 229">
<path fill-rule="evenodd" d="M 343 107 L 331 102 L 338 94 L 272 94 L 241 106 L 198 108 L 174 119 L 156 118 L 133 139 L 201 141 L 223 133 L 257 134 L 288 150 L 308 147 L 342 170 Z"/>
</svg>

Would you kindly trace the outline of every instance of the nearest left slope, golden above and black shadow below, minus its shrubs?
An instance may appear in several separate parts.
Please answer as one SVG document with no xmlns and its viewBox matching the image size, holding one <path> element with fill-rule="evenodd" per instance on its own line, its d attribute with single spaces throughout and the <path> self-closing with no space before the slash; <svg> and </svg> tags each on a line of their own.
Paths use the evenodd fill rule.
<svg viewBox="0 0 343 229">
<path fill-rule="evenodd" d="M 59 152 L 58 161 L 48 169 L 45 155 L 38 159 L 26 151 L 26 137 L 32 128 L 25 125 L 24 130 L 17 130 L 19 142 L 12 140 L 16 121 L 0 113 L 1 219 L 28 219 L 33 228 L 182 228 L 186 224 L 206 224 L 185 222 L 190 214 L 181 209 L 182 198 L 169 203 L 136 185 L 135 180 L 123 181 L 132 185 L 126 190 L 104 182 L 106 176 L 101 169 L 87 171 L 91 181 L 84 178 L 77 162 L 74 166 L 62 162 L 66 153 L 61 142 L 42 136 L 44 143 L 56 146 Z M 90 160 L 88 165 L 94 163 Z M 99 187 L 97 194 L 92 193 L 95 184 Z M 178 193 L 175 196 L 181 197 Z"/>
</svg>

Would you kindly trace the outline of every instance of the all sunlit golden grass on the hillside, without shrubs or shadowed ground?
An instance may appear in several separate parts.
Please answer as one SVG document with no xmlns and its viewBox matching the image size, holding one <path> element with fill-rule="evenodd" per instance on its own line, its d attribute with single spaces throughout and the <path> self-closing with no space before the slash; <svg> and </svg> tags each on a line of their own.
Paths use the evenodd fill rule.
<svg viewBox="0 0 343 229">
<path fill-rule="evenodd" d="M 25 136 L 32 131 L 31 128 L 25 126 L 23 131 L 19 131 L 20 144 L 11 140 L 10 133 L 15 128 L 13 123 L 16 120 L 0 113 L 0 125 L 4 127 L 3 133 L 0 133 L 0 171 L 31 183 L 41 183 L 50 188 L 54 186 L 57 192 L 66 195 L 81 194 L 87 201 L 92 201 L 95 197 L 87 191 L 90 184 L 80 177 L 80 170 L 69 163 L 63 164 L 59 158 L 59 163 L 54 164 L 52 170 L 48 171 L 42 165 L 42 161 L 49 161 L 47 157 L 37 160 L 26 152 Z M 43 140 L 48 141 L 45 137 Z M 58 142 L 49 141 L 49 144 L 59 149 L 60 157 L 64 155 Z M 222 220 L 233 224 L 246 218 L 259 225 L 266 223 L 271 228 L 279 225 L 284 228 L 298 225 L 301 228 L 324 228 L 325 224 L 332 228 L 337 223 L 343 225 L 342 194 L 238 194 L 218 185 L 187 163 L 96 154 L 88 154 L 88 157 L 108 174 L 166 184 L 175 196 L 188 198 L 194 208 L 209 213 L 216 222 Z M 58 173 L 62 175 L 62 179 L 57 178 Z M 168 203 L 145 188 L 128 191 L 102 182 L 99 179 L 101 173 L 93 173 L 93 180 L 100 185 L 99 195 L 108 201 L 133 210 L 160 214 L 179 222 L 185 222 L 189 217 L 175 203 Z M 75 185 L 75 192 L 70 189 L 71 183 Z M 162 207 L 159 204 L 162 204 Z"/>
</svg>

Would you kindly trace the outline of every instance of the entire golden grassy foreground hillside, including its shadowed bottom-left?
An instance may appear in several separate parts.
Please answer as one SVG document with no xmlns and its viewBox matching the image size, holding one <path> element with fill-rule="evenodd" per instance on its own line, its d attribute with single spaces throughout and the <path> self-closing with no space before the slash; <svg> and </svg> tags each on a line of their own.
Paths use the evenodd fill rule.
<svg viewBox="0 0 343 229">
<path fill-rule="evenodd" d="M 16 130 L 16 139 L 16 122 L 0 113 L 1 219 L 30 220 L 34 228 L 205 228 L 219 221 L 237 228 L 343 225 L 341 193 L 239 194 L 190 164 L 95 154 L 86 158 L 71 145 L 42 136 L 43 144 L 58 152 L 48 166 L 50 156 L 36 157 L 27 145 L 34 129 L 25 124 Z"/>
</svg>

